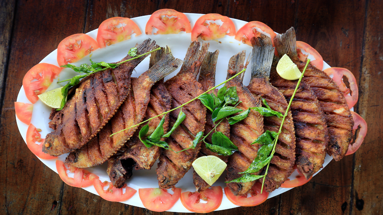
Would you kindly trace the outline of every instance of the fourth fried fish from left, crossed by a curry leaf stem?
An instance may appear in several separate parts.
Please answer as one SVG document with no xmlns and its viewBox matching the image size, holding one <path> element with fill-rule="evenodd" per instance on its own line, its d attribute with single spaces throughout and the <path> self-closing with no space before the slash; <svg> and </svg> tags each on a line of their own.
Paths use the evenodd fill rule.
<svg viewBox="0 0 383 215">
<path fill-rule="evenodd" d="M 208 43 L 203 43 L 201 50 L 199 50 L 200 42 L 192 42 L 187 50 L 180 72 L 165 82 L 165 87 L 173 98 L 172 108 L 187 103 L 204 92 L 196 78 L 208 47 Z M 171 112 L 169 126 L 173 126 L 179 112 L 180 109 Z M 182 112 L 186 115 L 185 120 L 167 138 L 169 147 L 174 151 L 180 151 L 193 146 L 195 135 L 205 130 L 206 108 L 200 100 L 196 99 L 183 106 Z M 198 157 L 200 149 L 201 143 L 198 143 L 194 149 L 188 149 L 179 153 L 164 150 L 159 158 L 156 169 L 159 187 L 163 189 L 175 187 L 175 184 L 191 168 L 191 163 Z"/>
</svg>

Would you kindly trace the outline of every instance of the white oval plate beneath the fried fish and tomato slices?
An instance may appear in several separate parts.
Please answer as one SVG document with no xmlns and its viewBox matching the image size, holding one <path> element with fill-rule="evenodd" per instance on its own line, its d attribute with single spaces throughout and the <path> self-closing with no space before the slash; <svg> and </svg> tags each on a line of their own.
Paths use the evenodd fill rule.
<svg viewBox="0 0 383 215">
<path fill-rule="evenodd" d="M 203 14 L 196 14 L 196 13 L 185 13 L 185 15 L 188 17 L 191 28 L 193 28 L 194 23 L 200 16 Z M 139 26 L 141 29 L 142 34 L 135 37 L 131 37 L 131 39 L 128 39 L 123 42 L 119 42 L 118 44 L 113 44 L 111 46 L 107 46 L 106 48 L 97 49 L 92 53 L 92 60 L 95 62 L 105 61 L 105 62 L 117 62 L 118 60 L 122 59 L 128 54 L 128 50 L 135 46 L 136 43 L 141 43 L 144 41 L 144 39 L 147 39 L 148 37 L 155 40 L 157 44 L 160 46 L 169 46 L 172 50 L 173 56 L 179 59 L 184 59 L 186 50 L 191 42 L 191 33 L 185 33 L 181 32 L 179 34 L 158 34 L 158 35 L 146 35 L 145 32 L 145 26 L 147 21 L 149 20 L 150 15 L 147 16 L 140 16 L 136 18 L 132 18 L 132 20 Z M 244 26 L 246 24 L 246 21 L 242 20 L 236 20 L 231 19 L 235 26 L 236 30 Z M 89 36 L 91 36 L 93 39 L 96 39 L 97 37 L 97 29 L 90 31 L 87 33 Z M 237 41 L 234 39 L 234 36 L 225 36 L 222 39 L 217 40 L 211 40 L 210 42 L 210 48 L 209 51 L 213 52 L 216 49 L 219 49 L 219 56 L 218 56 L 218 63 L 216 68 L 216 84 L 223 82 L 226 79 L 226 73 L 228 69 L 228 62 L 230 57 L 232 55 L 237 54 L 238 52 L 242 50 L 246 50 L 246 54 L 249 55 L 252 48 L 246 44 L 242 44 L 242 42 Z M 304 51 L 303 51 L 304 52 Z M 51 54 L 47 55 L 43 60 L 41 60 L 40 63 L 48 63 L 57 65 L 57 49 L 51 52 Z M 83 63 L 89 63 L 90 56 L 86 56 L 80 61 L 74 63 L 75 65 L 79 66 Z M 314 60 L 313 55 L 309 55 L 309 59 Z M 329 68 L 330 66 L 326 64 L 326 62 L 323 62 L 323 69 Z M 132 77 L 138 77 L 141 73 L 145 72 L 148 69 L 149 66 L 149 57 L 147 57 L 145 60 L 141 62 L 136 68 L 135 71 L 133 71 Z M 165 80 L 173 77 L 178 73 L 178 70 L 171 73 L 167 77 L 165 77 Z M 75 73 L 69 68 L 64 68 L 59 76 L 52 82 L 51 86 L 47 89 L 47 91 L 64 86 L 63 83 L 57 84 L 56 82 L 59 80 L 65 80 L 68 78 L 72 78 L 74 75 L 77 75 L 78 73 Z M 246 71 L 245 77 L 244 77 L 244 85 L 248 85 L 250 82 L 250 70 Z M 219 87 L 220 88 L 220 87 Z M 25 96 L 24 88 L 21 87 L 19 94 L 17 96 L 18 102 L 23 103 L 30 103 L 28 99 Z M 45 137 L 46 134 L 50 133 L 52 129 L 48 127 L 49 120 L 49 114 L 51 112 L 51 108 L 43 104 L 40 100 L 38 100 L 33 105 L 33 114 L 32 114 L 32 120 L 31 123 L 36 127 L 42 130 L 40 132 L 42 137 Z M 17 119 L 17 125 L 20 130 L 20 134 L 23 137 L 24 141 L 26 140 L 26 130 L 28 128 L 28 125 L 21 122 L 19 119 Z M 57 159 L 64 161 L 65 157 L 68 154 L 64 154 L 59 156 Z M 40 159 L 41 162 L 43 162 L 46 166 L 51 168 L 53 171 L 57 173 L 56 169 L 56 159 L 53 160 L 43 160 Z M 332 160 L 332 157 L 327 155 L 326 160 L 324 161 L 323 167 L 325 167 L 330 161 Z M 92 168 L 86 168 L 91 173 L 94 173 L 100 177 L 101 181 L 110 181 L 108 174 L 106 174 L 106 163 L 100 166 L 95 166 Z M 157 168 L 157 165 L 155 164 L 151 170 L 133 170 L 133 176 L 131 179 L 128 179 L 126 181 L 126 184 L 129 187 L 132 187 L 133 189 L 136 189 L 137 192 L 134 194 L 131 199 L 126 200 L 122 203 L 134 205 L 137 207 L 144 207 L 142 205 L 142 202 L 138 195 L 138 189 L 139 188 L 149 188 L 149 187 L 158 187 L 158 181 L 157 181 L 157 174 L 155 172 L 155 168 Z M 318 171 L 319 173 L 319 171 Z M 193 170 L 190 169 L 187 174 L 178 182 L 177 187 L 182 188 L 182 192 L 185 191 L 191 191 L 195 192 L 195 186 L 193 184 Z M 317 174 L 317 173 L 316 173 Z M 295 171 L 295 173 L 291 174 L 290 179 L 295 179 L 295 176 L 297 176 L 298 173 Z M 69 175 L 70 176 L 70 175 Z M 221 186 L 226 187 L 226 184 L 224 183 L 225 173 L 218 179 L 217 182 L 214 183 L 214 186 Z M 56 181 L 57 186 L 61 184 L 61 181 Z M 80 189 L 80 188 L 79 188 Z M 96 190 L 93 186 L 82 188 L 85 189 L 95 195 L 98 195 Z M 290 190 L 291 188 L 278 188 L 272 193 L 268 195 L 268 198 L 274 197 L 276 195 L 282 194 L 283 192 L 286 192 Z M 169 191 L 172 193 L 172 191 Z M 224 191 L 223 191 L 224 192 Z M 239 207 L 237 205 L 232 204 L 227 198 L 226 195 L 223 195 L 223 200 L 221 206 L 217 210 L 225 210 L 229 208 Z M 178 199 L 178 201 L 175 203 L 175 205 L 168 210 L 170 212 L 190 212 L 185 207 L 183 207 L 181 200 Z"/>
</svg>

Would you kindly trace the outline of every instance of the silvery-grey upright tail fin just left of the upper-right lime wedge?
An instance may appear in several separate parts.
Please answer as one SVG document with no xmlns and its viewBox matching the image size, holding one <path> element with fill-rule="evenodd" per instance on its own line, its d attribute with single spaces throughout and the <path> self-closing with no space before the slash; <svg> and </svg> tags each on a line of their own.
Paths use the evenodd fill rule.
<svg viewBox="0 0 383 215">
<path fill-rule="evenodd" d="M 262 41 L 262 39 L 260 41 Z M 263 44 L 263 42 L 260 42 L 257 44 Z M 252 60 L 251 78 L 270 77 L 270 69 L 273 63 L 273 57 L 274 57 L 273 45 L 264 45 L 264 46 L 254 45 L 253 55 L 251 58 Z"/>
</svg>

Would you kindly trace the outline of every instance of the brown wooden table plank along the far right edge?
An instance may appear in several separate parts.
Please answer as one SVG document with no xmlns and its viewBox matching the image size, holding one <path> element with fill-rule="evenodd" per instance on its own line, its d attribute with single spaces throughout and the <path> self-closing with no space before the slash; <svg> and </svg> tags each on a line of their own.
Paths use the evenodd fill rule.
<svg viewBox="0 0 383 215">
<path fill-rule="evenodd" d="M 360 67 L 359 101 L 357 112 L 368 125 L 364 143 L 355 153 L 352 214 L 383 213 L 383 166 L 381 147 L 383 134 L 382 107 L 382 52 L 380 45 L 383 23 L 381 1 L 368 1 L 364 36 L 363 64 Z"/>
</svg>

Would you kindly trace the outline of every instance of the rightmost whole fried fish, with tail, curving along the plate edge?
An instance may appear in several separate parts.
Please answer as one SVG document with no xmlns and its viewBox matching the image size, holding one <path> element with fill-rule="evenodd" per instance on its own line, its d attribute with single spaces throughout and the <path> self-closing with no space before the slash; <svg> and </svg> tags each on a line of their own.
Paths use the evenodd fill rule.
<svg viewBox="0 0 383 215">
<path fill-rule="evenodd" d="M 286 52 L 281 50 L 280 53 L 278 50 L 278 54 L 280 56 L 287 54 L 298 66 L 299 70 L 303 71 L 306 62 L 302 62 L 296 53 L 294 28 L 291 27 L 285 34 L 278 35 L 277 37 L 275 37 L 277 39 L 274 39 L 274 42 L 289 47 Z M 352 119 L 346 99 L 332 78 L 311 63 L 309 63 L 304 73 L 303 80 L 311 87 L 311 90 L 317 96 L 319 105 L 325 114 L 329 132 L 327 153 L 332 155 L 334 160 L 339 161 L 347 153 L 349 143 L 352 139 L 352 127 L 354 127 L 354 120 Z M 342 123 L 340 124 L 338 122 Z"/>
</svg>

